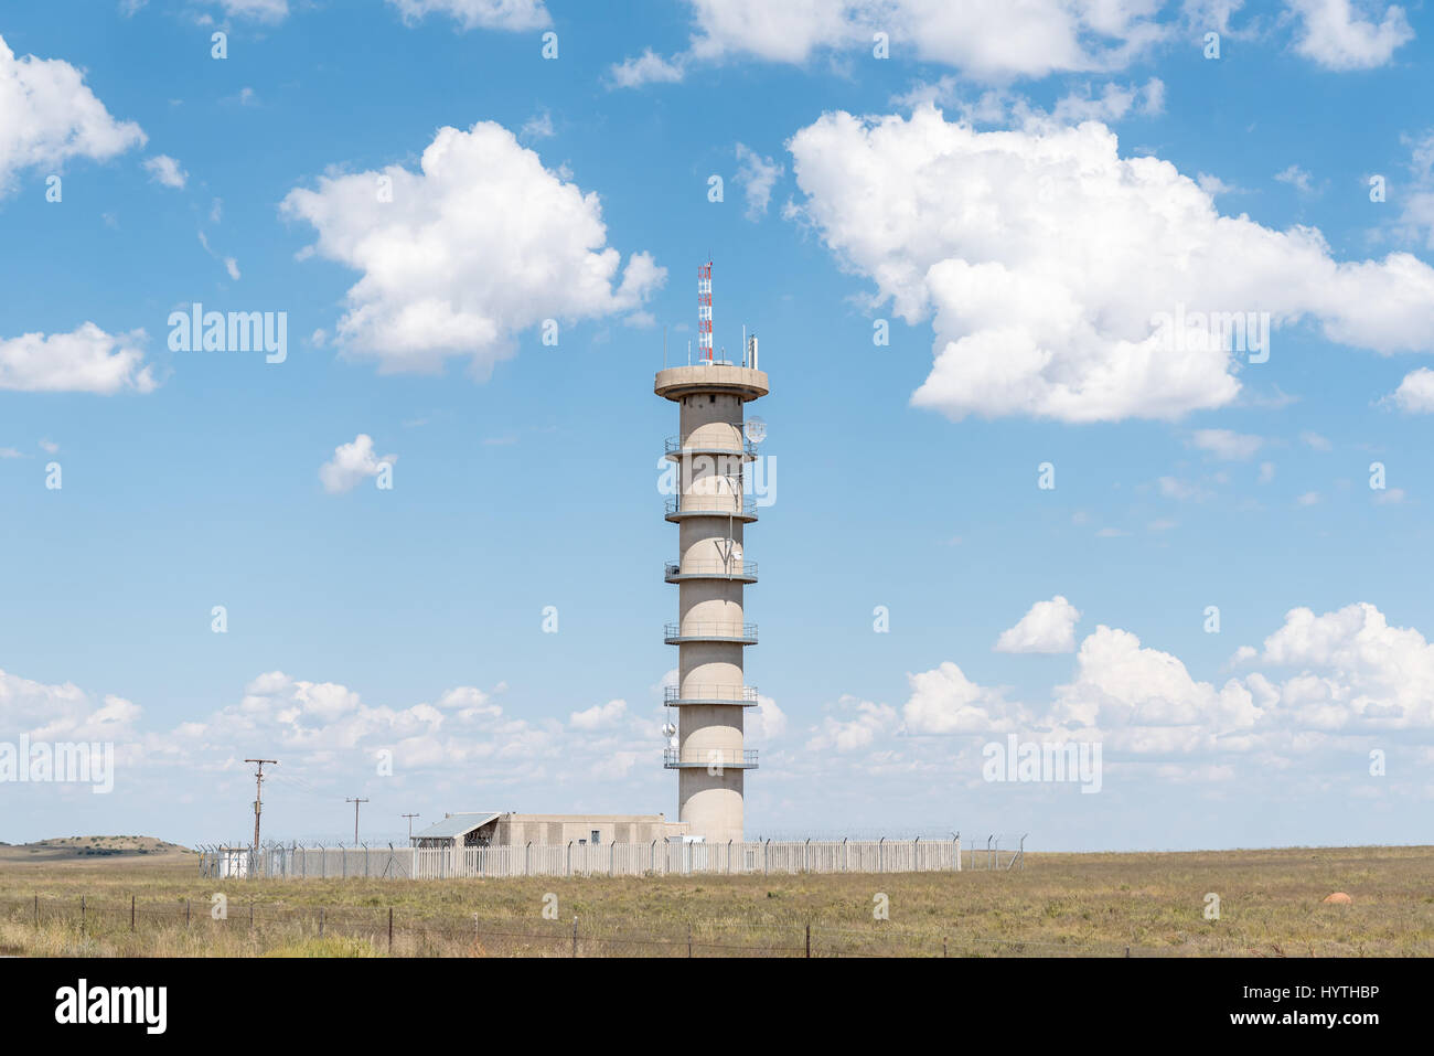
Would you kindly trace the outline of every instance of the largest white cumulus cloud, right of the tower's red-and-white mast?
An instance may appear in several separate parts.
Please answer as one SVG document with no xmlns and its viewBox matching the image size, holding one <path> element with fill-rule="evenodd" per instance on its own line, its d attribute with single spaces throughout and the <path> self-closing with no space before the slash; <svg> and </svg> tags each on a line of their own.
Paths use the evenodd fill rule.
<svg viewBox="0 0 1434 1056">
<path fill-rule="evenodd" d="M 1407 253 L 1341 263 L 1316 230 L 1222 217 L 1170 162 L 1121 158 L 1098 122 L 981 132 L 934 106 L 836 112 L 789 146 L 799 215 L 876 284 L 876 304 L 932 319 L 935 364 L 912 403 L 952 419 L 1225 406 L 1240 390 L 1233 343 L 1176 340 L 1163 320 L 1186 308 L 1434 350 L 1434 268 Z"/>
</svg>

